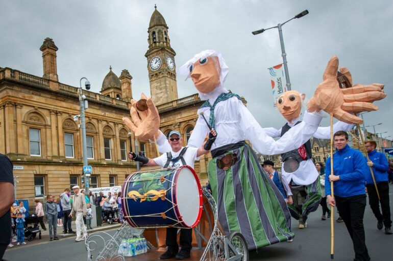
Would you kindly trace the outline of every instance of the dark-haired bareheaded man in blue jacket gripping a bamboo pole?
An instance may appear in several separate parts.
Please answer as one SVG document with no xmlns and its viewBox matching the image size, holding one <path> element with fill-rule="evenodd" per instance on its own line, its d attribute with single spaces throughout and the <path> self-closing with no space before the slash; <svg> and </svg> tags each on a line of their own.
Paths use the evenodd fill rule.
<svg viewBox="0 0 393 261">
<path fill-rule="evenodd" d="M 363 154 L 349 147 L 348 134 L 337 131 L 333 135 L 336 152 L 333 154 L 333 175 L 330 175 L 330 157 L 326 161 L 325 192 L 328 204 L 337 205 L 353 242 L 355 261 L 370 260 L 365 245 L 363 215 L 366 206 L 365 180 L 367 171 Z M 330 182 L 334 182 L 334 197 Z"/>
</svg>

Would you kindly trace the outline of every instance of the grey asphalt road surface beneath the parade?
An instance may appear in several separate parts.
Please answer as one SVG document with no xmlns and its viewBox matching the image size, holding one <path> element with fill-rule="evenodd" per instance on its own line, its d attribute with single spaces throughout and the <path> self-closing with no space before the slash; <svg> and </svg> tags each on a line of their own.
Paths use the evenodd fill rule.
<svg viewBox="0 0 393 261">
<path fill-rule="evenodd" d="M 393 212 L 393 185 L 390 185 L 390 191 L 390 210 Z M 367 204 L 368 201 L 367 199 Z M 334 218 L 336 219 L 337 213 L 334 214 Z M 321 207 L 311 213 L 307 220 L 308 226 L 305 229 L 299 229 L 298 222 L 292 219 L 292 231 L 295 234 L 292 243 L 284 242 L 252 251 L 250 252 L 250 260 L 331 261 L 330 220 L 321 220 L 321 215 Z M 393 260 L 393 235 L 385 235 L 383 229 L 377 229 L 377 220 L 369 205 L 366 206 L 363 223 L 366 246 L 369 249 L 371 260 Z M 75 227 L 75 224 L 73 224 L 73 227 Z M 113 235 L 116 233 L 118 225 L 104 224 L 102 227 L 95 229 L 89 230 L 88 233 L 100 229 L 108 229 L 105 232 Z M 333 261 L 353 261 L 353 245 L 344 223 L 334 222 L 334 244 Z M 41 240 L 36 238 L 32 242 L 27 242 L 27 245 L 14 246 L 6 250 L 4 260 L 19 261 L 21 259 L 38 261 L 87 260 L 87 251 L 83 241 L 79 243 L 75 242 L 75 236 L 69 237 L 66 235 L 65 237 L 60 237 L 59 241 L 49 242 L 49 236 L 46 231 L 46 234 Z M 132 257 L 127 260 L 132 260 Z M 192 259 L 192 261 L 197 260 Z"/>
</svg>

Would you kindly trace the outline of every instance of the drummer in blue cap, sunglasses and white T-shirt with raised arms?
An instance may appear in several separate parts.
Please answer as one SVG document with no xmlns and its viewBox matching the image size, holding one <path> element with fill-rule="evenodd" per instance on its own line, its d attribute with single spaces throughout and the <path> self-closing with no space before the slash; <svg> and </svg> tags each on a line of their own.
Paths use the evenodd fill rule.
<svg viewBox="0 0 393 261">
<path fill-rule="evenodd" d="M 128 153 L 128 158 L 139 161 L 145 166 L 161 166 L 167 167 L 180 167 L 188 165 L 194 167 L 194 161 L 199 160 L 199 157 L 210 151 L 211 146 L 217 137 L 217 133 L 212 129 L 209 133 L 208 140 L 202 148 L 183 147 L 183 137 L 180 132 L 173 130 L 169 132 L 168 142 L 171 148 L 170 152 L 162 154 L 161 156 L 149 159 L 141 155 L 137 155 L 134 152 Z M 181 229 L 180 230 L 180 245 L 182 249 L 179 252 L 179 246 L 177 243 L 177 228 L 168 227 L 166 228 L 166 239 L 165 244 L 168 247 L 165 253 L 160 256 L 160 259 L 167 259 L 176 257 L 177 259 L 185 259 L 190 257 L 191 241 L 192 241 L 192 229 Z"/>
</svg>

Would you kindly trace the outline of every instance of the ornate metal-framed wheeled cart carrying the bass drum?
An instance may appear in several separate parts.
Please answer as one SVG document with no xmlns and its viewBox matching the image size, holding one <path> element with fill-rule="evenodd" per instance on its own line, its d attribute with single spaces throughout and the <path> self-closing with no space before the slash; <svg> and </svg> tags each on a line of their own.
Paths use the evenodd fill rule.
<svg viewBox="0 0 393 261">
<path fill-rule="evenodd" d="M 213 212 L 214 225 L 211 229 L 210 239 L 206 239 L 200 231 L 200 226 L 194 227 L 194 234 L 198 241 L 198 249 L 191 250 L 191 260 L 199 258 L 201 261 L 248 261 L 249 250 L 247 242 L 239 232 L 232 232 L 229 236 L 225 236 L 219 228 L 217 219 L 217 206 L 212 195 L 202 188 L 203 196 L 207 199 L 209 207 Z M 206 210 L 206 206 L 203 206 Z M 208 218 L 209 219 L 209 218 Z M 208 220 L 211 224 L 211 220 Z M 124 261 L 124 260 L 152 260 L 158 259 L 160 252 L 163 250 L 154 247 L 148 241 L 148 253 L 137 256 L 127 257 L 122 254 L 120 249 L 120 242 L 122 239 L 129 239 L 133 237 L 141 237 L 144 229 L 137 229 L 131 227 L 127 222 L 117 229 L 116 233 L 111 236 L 104 231 L 92 233 L 85 239 L 85 246 L 87 250 L 87 261 Z M 158 234 L 156 234 L 158 237 Z M 158 238 L 157 238 L 158 241 Z M 202 241 L 206 244 L 202 247 Z M 167 259 L 176 260 L 176 259 Z"/>
</svg>

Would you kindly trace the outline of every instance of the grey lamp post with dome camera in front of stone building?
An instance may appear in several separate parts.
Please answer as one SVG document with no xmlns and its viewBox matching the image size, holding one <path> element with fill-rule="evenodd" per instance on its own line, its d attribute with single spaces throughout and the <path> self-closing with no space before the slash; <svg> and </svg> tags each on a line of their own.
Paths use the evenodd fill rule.
<svg viewBox="0 0 393 261">
<path fill-rule="evenodd" d="M 82 153 L 83 153 L 83 166 L 87 166 L 87 147 L 86 147 L 86 124 L 85 124 L 85 109 L 87 101 L 86 96 L 82 94 L 82 79 L 85 79 L 86 90 L 90 89 L 90 82 L 86 77 L 82 77 L 79 81 L 79 106 L 81 109 L 81 129 L 82 129 Z M 85 170 L 83 169 L 83 177 L 85 179 L 86 195 L 89 195 L 90 177 L 86 177 Z M 90 198 L 90 197 L 89 197 Z"/>
</svg>

